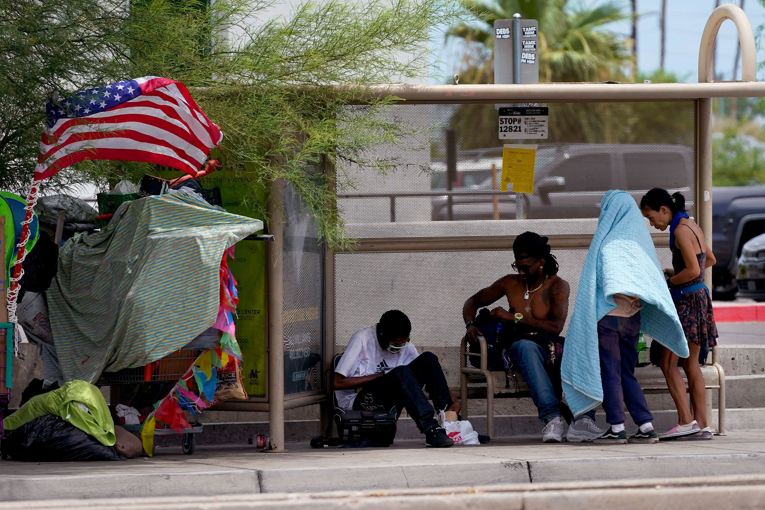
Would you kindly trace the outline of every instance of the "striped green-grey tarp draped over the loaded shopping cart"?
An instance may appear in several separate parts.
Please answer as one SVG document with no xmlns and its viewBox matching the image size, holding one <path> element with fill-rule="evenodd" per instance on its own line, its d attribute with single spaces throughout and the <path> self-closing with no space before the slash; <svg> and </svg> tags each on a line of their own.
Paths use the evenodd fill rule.
<svg viewBox="0 0 765 510">
<path fill-rule="evenodd" d="M 262 227 L 171 194 L 126 202 L 100 233 L 69 240 L 47 291 L 64 380 L 146 365 L 213 325 L 223 253 Z"/>
</svg>

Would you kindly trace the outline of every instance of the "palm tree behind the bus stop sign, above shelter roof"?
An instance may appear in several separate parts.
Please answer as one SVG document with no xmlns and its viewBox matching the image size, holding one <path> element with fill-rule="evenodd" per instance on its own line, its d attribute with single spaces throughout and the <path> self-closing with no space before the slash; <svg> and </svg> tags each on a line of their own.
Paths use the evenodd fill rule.
<svg viewBox="0 0 765 510">
<path fill-rule="evenodd" d="M 493 23 L 497 19 L 539 21 L 539 80 L 601 81 L 621 77 L 633 61 L 628 41 L 604 28 L 627 18 L 617 2 L 571 8 L 568 0 L 460 0 L 477 20 L 452 27 L 447 41 L 463 39 L 461 83 L 493 82 Z"/>
</svg>

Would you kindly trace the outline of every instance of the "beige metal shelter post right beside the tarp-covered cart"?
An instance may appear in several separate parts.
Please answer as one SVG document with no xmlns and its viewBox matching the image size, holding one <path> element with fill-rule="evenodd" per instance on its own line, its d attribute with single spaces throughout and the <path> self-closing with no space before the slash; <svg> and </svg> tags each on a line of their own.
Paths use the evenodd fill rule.
<svg viewBox="0 0 765 510">
<path fill-rule="evenodd" d="M 271 451 L 285 450 L 285 359 L 284 359 L 284 181 L 271 185 L 269 200 L 269 439 Z"/>
</svg>

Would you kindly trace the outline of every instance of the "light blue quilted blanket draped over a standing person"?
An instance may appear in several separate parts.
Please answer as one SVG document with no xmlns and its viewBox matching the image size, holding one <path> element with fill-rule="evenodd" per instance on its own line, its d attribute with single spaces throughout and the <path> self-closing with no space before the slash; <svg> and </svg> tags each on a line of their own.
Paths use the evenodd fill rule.
<svg viewBox="0 0 765 510">
<path fill-rule="evenodd" d="M 688 342 L 656 248 L 627 191 L 608 191 L 601 201 L 601 217 L 584 261 L 566 333 L 561 377 L 566 404 L 574 416 L 603 401 L 597 322 L 616 307 L 614 294 L 639 297 L 643 304 L 640 330 L 681 358 L 688 357 Z"/>
</svg>

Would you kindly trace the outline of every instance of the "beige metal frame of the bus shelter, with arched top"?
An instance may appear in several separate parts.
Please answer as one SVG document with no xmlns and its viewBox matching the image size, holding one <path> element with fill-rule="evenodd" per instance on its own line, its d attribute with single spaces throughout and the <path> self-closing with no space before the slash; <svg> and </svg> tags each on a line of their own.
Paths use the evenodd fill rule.
<svg viewBox="0 0 765 510">
<path fill-rule="evenodd" d="M 713 82 L 712 55 L 720 25 L 731 20 L 736 25 L 741 44 L 742 80 L 737 82 Z M 400 103 L 607 103 L 607 102 L 659 102 L 673 100 L 695 101 L 695 130 L 697 158 L 695 161 L 695 218 L 702 228 L 708 244 L 712 239 L 712 99 L 723 97 L 763 97 L 765 83 L 756 81 L 757 61 L 754 34 L 747 16 L 735 5 L 721 5 L 707 21 L 699 52 L 698 80 L 700 83 L 533 83 L 522 85 L 406 85 L 389 84 L 366 87 L 369 99 L 395 96 Z M 337 86 L 338 90 L 350 86 Z M 269 204 L 269 233 L 275 242 L 269 243 L 269 342 L 268 342 L 268 402 L 240 402 L 220 404 L 220 410 L 269 411 L 269 435 L 272 451 L 285 450 L 285 410 L 295 407 L 321 404 L 321 431 L 330 420 L 331 413 L 331 367 L 335 350 L 335 255 L 338 253 L 403 253 L 408 251 L 455 250 L 511 250 L 513 237 L 483 235 L 470 237 L 385 237 L 365 238 L 347 252 L 333 252 L 324 247 L 324 390 L 293 394 L 285 397 L 284 380 L 284 302 L 283 275 L 284 235 L 282 230 L 282 181 L 273 184 Z M 278 191 L 278 192 L 277 192 Z M 447 195 L 439 191 L 438 195 Z M 427 195 L 427 194 L 426 194 Z M 482 192 L 481 195 L 487 195 Z M 349 195 L 350 196 L 350 195 Z M 389 196 L 389 195 L 386 195 Z M 395 201 L 395 197 L 391 198 Z M 395 209 L 392 212 L 395 221 Z M 587 249 L 591 235 L 553 235 L 549 243 L 553 249 Z M 657 246 L 668 246 L 669 236 L 654 234 Z M 705 271 L 705 280 L 711 287 L 711 267 Z M 277 303 L 277 306 L 273 306 Z M 455 345 L 455 349 L 459 346 Z M 712 350 L 712 361 L 720 371 L 721 384 L 724 373 L 720 367 L 718 349 Z M 724 393 L 723 393 L 724 394 Z M 723 395 L 721 394 L 721 395 Z M 721 397 L 721 409 L 724 398 Z M 721 410 L 721 414 L 724 410 Z M 724 415 L 721 416 L 724 430 Z"/>
</svg>

